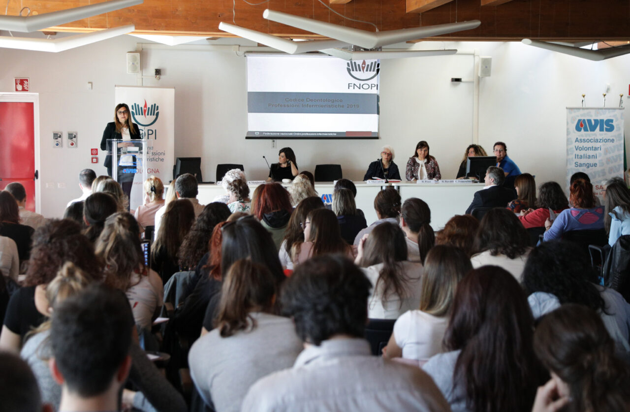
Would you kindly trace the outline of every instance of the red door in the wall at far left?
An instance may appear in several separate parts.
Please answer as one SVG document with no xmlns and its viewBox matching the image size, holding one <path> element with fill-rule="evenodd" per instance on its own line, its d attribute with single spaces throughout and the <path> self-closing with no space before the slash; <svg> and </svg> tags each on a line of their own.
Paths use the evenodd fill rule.
<svg viewBox="0 0 630 412">
<path fill-rule="evenodd" d="M 33 103 L 0 101 L 0 190 L 13 181 L 24 185 L 26 209 L 35 212 Z"/>
</svg>

